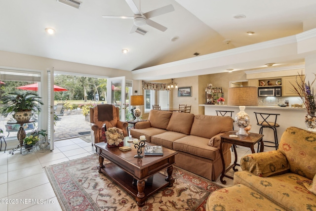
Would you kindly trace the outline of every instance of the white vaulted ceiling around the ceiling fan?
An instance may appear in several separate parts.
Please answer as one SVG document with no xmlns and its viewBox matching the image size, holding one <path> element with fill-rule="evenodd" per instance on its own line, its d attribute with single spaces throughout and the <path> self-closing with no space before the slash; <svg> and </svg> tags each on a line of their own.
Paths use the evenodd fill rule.
<svg viewBox="0 0 316 211">
<path fill-rule="evenodd" d="M 75 9 L 56 0 L 0 0 L 0 50 L 132 71 L 296 35 L 316 20 L 315 0 L 141 0 L 142 12 L 175 8 L 152 18 L 165 32 L 144 26 L 143 36 L 129 33 L 131 19 L 101 17 L 133 16 L 125 0 L 81 1 Z"/>
</svg>

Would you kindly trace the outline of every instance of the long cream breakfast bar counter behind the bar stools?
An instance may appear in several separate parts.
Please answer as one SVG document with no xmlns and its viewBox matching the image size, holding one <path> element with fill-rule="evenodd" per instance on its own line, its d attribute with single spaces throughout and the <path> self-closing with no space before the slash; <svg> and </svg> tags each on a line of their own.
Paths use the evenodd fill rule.
<svg viewBox="0 0 316 211">
<path fill-rule="evenodd" d="M 216 110 L 222 111 L 234 111 L 233 119 L 235 115 L 239 112 L 239 106 L 228 106 L 228 105 L 208 105 L 199 104 L 199 106 L 204 107 L 205 115 L 216 115 Z M 306 114 L 305 108 L 298 107 L 280 107 L 278 105 L 261 105 L 261 106 L 246 106 L 245 112 L 249 115 L 250 125 L 252 126 L 250 132 L 259 133 L 259 126 L 257 126 L 256 115 L 254 112 L 269 113 L 269 114 L 280 114 L 277 116 L 276 123 L 280 127 L 277 127 L 277 138 L 280 140 L 282 133 L 287 127 L 298 127 L 302 129 L 307 129 L 304 122 L 304 116 Z M 234 123 L 234 129 L 237 130 L 238 127 Z M 269 128 L 263 129 L 263 140 L 274 141 L 273 130 Z M 274 150 L 272 147 L 265 147 L 264 151 Z"/>
</svg>

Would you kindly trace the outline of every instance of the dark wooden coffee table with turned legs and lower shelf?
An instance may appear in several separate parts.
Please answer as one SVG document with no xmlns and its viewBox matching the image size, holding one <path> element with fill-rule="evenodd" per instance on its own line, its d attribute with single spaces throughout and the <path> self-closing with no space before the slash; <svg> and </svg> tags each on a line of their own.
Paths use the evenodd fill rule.
<svg viewBox="0 0 316 211">
<path fill-rule="evenodd" d="M 155 146 L 152 143 L 147 144 Z M 134 148 L 133 143 L 127 142 L 126 138 L 124 146 L 132 148 L 132 150 L 126 152 L 120 151 L 118 147 L 108 148 L 107 143 L 104 142 L 96 143 L 94 146 L 97 154 L 99 154 L 99 172 L 108 175 L 125 189 L 135 198 L 138 206 L 144 206 L 146 199 L 162 188 L 166 186 L 172 187 L 174 182 L 172 165 L 177 152 L 163 147 L 163 156 L 134 158 L 134 155 L 137 155 L 137 150 Z M 111 161 L 111 163 L 104 165 L 104 159 Z M 165 168 L 167 168 L 167 177 L 159 173 L 160 170 Z M 151 176 L 153 176 L 153 183 L 145 185 L 145 181 Z M 133 184 L 134 179 L 137 180 L 137 185 Z"/>
</svg>

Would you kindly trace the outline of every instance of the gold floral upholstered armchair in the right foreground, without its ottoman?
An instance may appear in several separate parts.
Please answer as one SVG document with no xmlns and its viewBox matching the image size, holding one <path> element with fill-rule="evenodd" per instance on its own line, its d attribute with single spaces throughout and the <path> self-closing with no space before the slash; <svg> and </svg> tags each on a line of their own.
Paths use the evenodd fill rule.
<svg viewBox="0 0 316 211">
<path fill-rule="evenodd" d="M 240 167 L 234 184 L 251 188 L 284 210 L 316 208 L 316 133 L 288 127 L 277 150 L 244 156 Z"/>
</svg>

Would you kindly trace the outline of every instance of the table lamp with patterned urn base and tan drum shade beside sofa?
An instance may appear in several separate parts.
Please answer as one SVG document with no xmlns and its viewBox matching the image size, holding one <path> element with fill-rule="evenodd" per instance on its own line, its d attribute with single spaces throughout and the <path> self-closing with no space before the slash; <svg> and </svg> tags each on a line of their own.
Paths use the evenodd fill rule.
<svg viewBox="0 0 316 211">
<path fill-rule="evenodd" d="M 245 106 L 258 106 L 257 87 L 241 86 L 228 89 L 228 105 L 239 106 L 240 111 L 235 116 L 235 123 L 239 127 L 237 135 L 248 135 L 245 127 L 250 123 Z"/>
</svg>

